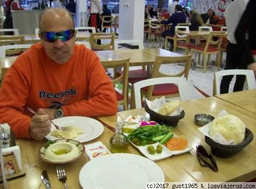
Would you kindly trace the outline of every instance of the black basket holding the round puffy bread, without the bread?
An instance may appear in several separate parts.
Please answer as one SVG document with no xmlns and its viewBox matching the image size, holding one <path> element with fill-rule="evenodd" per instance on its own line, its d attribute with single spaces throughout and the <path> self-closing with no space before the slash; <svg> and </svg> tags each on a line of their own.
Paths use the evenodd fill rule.
<svg viewBox="0 0 256 189">
<path fill-rule="evenodd" d="M 220 144 L 218 142 L 215 142 L 208 136 L 205 136 L 204 140 L 207 144 L 210 145 L 212 153 L 215 156 L 218 156 L 221 158 L 230 158 L 232 156 L 235 156 L 240 151 L 242 151 L 246 147 L 246 145 L 252 142 L 253 134 L 248 128 L 246 128 L 244 141 L 236 145 Z"/>
</svg>

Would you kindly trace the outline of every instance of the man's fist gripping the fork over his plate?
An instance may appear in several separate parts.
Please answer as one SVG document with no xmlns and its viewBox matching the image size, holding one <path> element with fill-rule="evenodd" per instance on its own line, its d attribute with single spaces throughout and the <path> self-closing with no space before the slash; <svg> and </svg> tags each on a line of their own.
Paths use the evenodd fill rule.
<svg viewBox="0 0 256 189">
<path fill-rule="evenodd" d="M 51 121 L 43 109 L 39 108 L 37 112 L 38 115 L 34 115 L 31 119 L 29 135 L 32 139 L 43 140 L 51 131 Z"/>
</svg>

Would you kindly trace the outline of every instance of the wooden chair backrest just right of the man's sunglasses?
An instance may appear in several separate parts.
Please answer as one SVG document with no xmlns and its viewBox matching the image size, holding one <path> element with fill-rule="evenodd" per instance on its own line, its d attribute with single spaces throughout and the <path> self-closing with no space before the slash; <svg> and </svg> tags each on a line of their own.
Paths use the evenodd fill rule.
<svg viewBox="0 0 256 189">
<path fill-rule="evenodd" d="M 101 45 L 97 44 L 97 39 L 101 39 Z M 103 40 L 110 42 L 102 44 Z M 115 33 L 91 33 L 90 46 L 92 50 L 115 50 Z"/>
</svg>

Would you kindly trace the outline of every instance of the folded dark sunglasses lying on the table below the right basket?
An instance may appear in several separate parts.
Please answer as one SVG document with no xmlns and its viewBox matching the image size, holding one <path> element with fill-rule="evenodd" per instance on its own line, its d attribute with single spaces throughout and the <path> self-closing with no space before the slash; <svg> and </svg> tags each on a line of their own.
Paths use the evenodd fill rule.
<svg viewBox="0 0 256 189">
<path fill-rule="evenodd" d="M 203 167 L 209 167 L 213 171 L 218 171 L 217 162 L 212 157 L 211 154 L 208 154 L 206 149 L 202 145 L 196 147 L 196 154 L 199 164 Z"/>
</svg>

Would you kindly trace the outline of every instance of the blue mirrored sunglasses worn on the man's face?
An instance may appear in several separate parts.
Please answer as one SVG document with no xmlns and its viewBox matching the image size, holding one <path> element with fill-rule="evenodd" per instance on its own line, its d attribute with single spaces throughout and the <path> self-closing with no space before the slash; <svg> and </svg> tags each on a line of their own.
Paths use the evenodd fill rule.
<svg viewBox="0 0 256 189">
<path fill-rule="evenodd" d="M 42 31 L 41 37 L 47 42 L 55 42 L 58 38 L 62 42 L 66 42 L 74 37 L 75 30 L 65 30 L 60 32 Z"/>
</svg>

